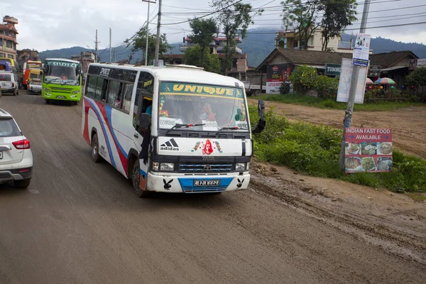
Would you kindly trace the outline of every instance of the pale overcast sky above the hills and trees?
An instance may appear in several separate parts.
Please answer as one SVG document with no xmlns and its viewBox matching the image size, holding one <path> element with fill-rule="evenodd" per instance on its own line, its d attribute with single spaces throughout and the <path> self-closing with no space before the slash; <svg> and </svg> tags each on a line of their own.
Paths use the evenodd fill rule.
<svg viewBox="0 0 426 284">
<path fill-rule="evenodd" d="M 153 0 L 151 0 L 153 1 Z M 263 16 L 254 18 L 251 28 L 268 28 L 277 31 L 282 21 L 280 11 L 274 6 L 282 0 L 245 0 L 253 7 L 266 7 Z M 358 0 L 360 4 L 364 0 Z M 381 3 L 374 3 L 381 2 Z M 126 3 L 126 4 L 124 4 Z M 158 3 L 158 1 L 157 1 Z M 408 9 L 410 6 L 417 6 Z M 117 46 L 131 37 L 146 21 L 148 4 L 142 0 L 0 0 L 1 15 L 18 18 L 18 48 L 38 51 L 83 46 L 94 48 L 95 30 L 98 30 L 99 48 L 109 45 L 109 28 L 112 28 L 112 45 Z M 271 7 L 271 8 L 270 8 Z M 364 5 L 359 5 L 361 13 Z M 392 11 L 383 11 L 392 10 Z M 189 32 L 187 23 L 173 24 L 212 11 L 209 0 L 163 0 L 161 33 L 167 33 L 169 43 L 182 41 Z M 155 32 L 158 5 L 151 4 L 150 28 Z M 400 16 L 398 16 L 400 15 Z M 426 23 L 388 28 L 403 23 L 426 22 L 426 0 L 371 0 L 366 33 L 403 42 L 426 44 Z M 359 23 L 351 28 L 359 28 Z M 356 33 L 356 31 L 346 31 Z"/>
</svg>

